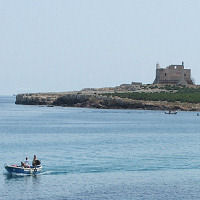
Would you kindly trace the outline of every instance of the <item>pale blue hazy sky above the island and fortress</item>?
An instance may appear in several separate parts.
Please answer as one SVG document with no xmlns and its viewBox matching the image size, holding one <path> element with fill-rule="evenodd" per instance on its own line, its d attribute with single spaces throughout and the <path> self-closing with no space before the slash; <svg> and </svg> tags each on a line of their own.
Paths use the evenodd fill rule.
<svg viewBox="0 0 200 200">
<path fill-rule="evenodd" d="M 0 94 L 152 83 L 185 63 L 200 84 L 199 0 L 0 0 Z"/>
</svg>

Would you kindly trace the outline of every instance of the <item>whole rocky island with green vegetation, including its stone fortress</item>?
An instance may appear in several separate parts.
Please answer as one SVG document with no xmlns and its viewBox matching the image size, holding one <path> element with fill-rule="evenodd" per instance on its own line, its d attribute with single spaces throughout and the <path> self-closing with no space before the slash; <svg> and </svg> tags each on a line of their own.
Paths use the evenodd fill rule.
<svg viewBox="0 0 200 200">
<path fill-rule="evenodd" d="M 74 92 L 18 94 L 16 104 L 200 111 L 200 86 L 194 84 L 191 69 L 186 69 L 184 62 L 165 68 L 157 63 L 153 84 L 132 82 L 116 87 L 85 88 Z"/>
</svg>

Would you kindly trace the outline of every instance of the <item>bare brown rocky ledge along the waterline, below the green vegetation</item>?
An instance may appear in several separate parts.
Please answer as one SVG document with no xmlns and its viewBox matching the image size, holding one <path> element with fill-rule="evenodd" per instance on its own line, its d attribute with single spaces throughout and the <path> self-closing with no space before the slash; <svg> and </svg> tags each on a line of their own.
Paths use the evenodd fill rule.
<svg viewBox="0 0 200 200">
<path fill-rule="evenodd" d="M 200 111 L 199 103 L 143 101 L 103 94 L 80 94 L 79 92 L 18 94 L 15 103 L 23 105 L 46 105 L 49 107 Z"/>
</svg>

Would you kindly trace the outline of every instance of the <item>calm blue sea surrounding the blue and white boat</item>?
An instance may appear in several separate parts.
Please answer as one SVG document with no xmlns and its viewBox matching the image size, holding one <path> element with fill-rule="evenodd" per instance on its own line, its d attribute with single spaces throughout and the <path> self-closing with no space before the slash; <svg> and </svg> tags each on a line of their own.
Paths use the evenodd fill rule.
<svg viewBox="0 0 200 200">
<path fill-rule="evenodd" d="M 1 200 L 200 199 L 195 112 L 15 105 L 0 97 Z M 36 154 L 41 175 L 10 177 L 4 163 Z"/>
</svg>

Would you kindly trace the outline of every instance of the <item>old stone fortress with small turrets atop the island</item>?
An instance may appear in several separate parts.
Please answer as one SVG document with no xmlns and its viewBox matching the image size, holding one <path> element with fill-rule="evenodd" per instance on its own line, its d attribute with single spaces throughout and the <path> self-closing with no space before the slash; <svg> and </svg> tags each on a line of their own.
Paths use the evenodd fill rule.
<svg viewBox="0 0 200 200">
<path fill-rule="evenodd" d="M 153 84 L 193 84 L 191 69 L 184 69 L 184 62 L 181 65 L 169 65 L 166 68 L 160 68 L 160 65 L 156 64 L 156 78 Z"/>
</svg>

